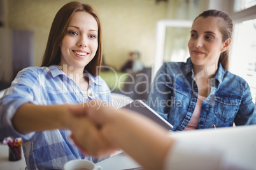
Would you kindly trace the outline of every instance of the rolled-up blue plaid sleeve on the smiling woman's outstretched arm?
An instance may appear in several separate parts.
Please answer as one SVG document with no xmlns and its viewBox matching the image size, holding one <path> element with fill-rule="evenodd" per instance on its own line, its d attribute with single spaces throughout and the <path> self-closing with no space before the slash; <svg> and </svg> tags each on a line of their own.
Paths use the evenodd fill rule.
<svg viewBox="0 0 256 170">
<path fill-rule="evenodd" d="M 34 133 L 19 133 L 11 122 L 11 119 L 18 108 L 25 103 L 36 104 L 35 95 L 38 92 L 38 78 L 32 70 L 24 69 L 20 71 L 11 83 L 11 87 L 6 89 L 3 98 L 0 100 L 0 137 L 31 138 Z"/>
</svg>

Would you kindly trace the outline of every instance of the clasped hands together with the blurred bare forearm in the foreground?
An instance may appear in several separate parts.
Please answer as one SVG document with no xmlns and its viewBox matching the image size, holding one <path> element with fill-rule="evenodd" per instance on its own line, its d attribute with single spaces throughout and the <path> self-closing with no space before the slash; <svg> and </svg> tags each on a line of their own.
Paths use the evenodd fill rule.
<svg viewBox="0 0 256 170">
<path fill-rule="evenodd" d="M 146 169 L 161 169 L 173 144 L 166 129 L 131 110 L 100 103 L 68 106 L 75 120 L 69 121 L 71 139 L 83 154 L 101 157 L 122 149 Z"/>
</svg>

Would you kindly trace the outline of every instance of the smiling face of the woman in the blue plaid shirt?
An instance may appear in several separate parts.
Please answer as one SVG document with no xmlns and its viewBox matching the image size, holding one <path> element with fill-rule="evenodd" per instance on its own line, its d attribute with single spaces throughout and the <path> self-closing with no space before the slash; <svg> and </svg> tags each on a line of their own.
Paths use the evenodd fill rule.
<svg viewBox="0 0 256 170">
<path fill-rule="evenodd" d="M 84 69 L 98 48 L 98 25 L 96 19 L 85 11 L 74 13 L 68 23 L 66 35 L 60 44 L 60 65 Z"/>
</svg>

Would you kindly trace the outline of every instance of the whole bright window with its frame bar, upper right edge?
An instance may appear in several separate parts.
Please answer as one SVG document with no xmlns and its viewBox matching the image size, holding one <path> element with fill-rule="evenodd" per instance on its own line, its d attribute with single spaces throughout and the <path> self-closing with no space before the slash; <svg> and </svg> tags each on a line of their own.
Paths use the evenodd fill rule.
<svg viewBox="0 0 256 170">
<path fill-rule="evenodd" d="M 256 101 L 256 0 L 234 1 L 234 21 L 229 70 L 245 79 Z"/>
</svg>

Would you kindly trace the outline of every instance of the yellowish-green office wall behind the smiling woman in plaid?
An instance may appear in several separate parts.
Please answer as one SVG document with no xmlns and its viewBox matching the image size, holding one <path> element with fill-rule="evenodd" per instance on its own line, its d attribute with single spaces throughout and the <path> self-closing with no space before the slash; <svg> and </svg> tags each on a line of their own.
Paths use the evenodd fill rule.
<svg viewBox="0 0 256 170">
<path fill-rule="evenodd" d="M 9 29 L 34 32 L 34 65 L 41 65 L 52 20 L 67 0 L 6 0 Z M 96 8 L 103 25 L 104 59 L 119 69 L 129 51 L 141 53 L 146 66 L 155 55 L 155 25 L 166 18 L 166 2 L 155 0 L 83 0 Z"/>
</svg>

